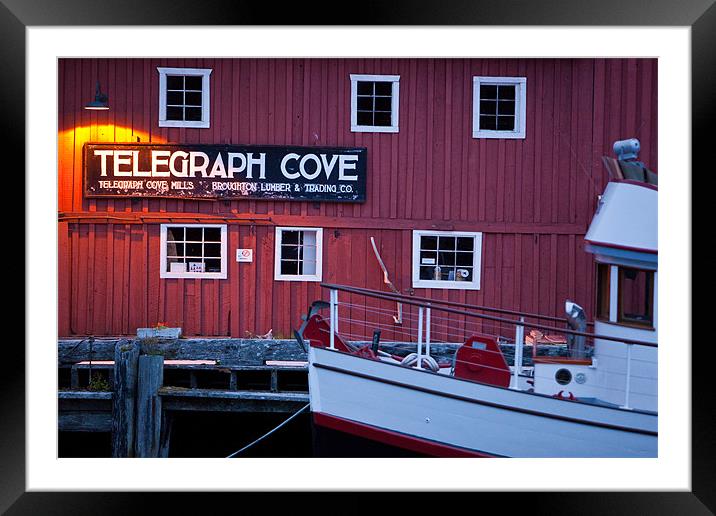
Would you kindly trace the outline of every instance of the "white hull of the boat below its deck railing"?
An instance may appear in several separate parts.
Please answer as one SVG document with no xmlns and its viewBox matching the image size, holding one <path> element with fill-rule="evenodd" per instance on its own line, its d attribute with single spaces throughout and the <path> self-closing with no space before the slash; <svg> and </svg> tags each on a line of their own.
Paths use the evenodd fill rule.
<svg viewBox="0 0 716 516">
<path fill-rule="evenodd" d="M 318 455 L 325 449 L 322 435 L 334 443 L 337 436 L 350 436 L 418 456 L 656 457 L 658 452 L 655 413 L 560 400 L 324 348 L 309 350 L 309 389 Z M 360 453 L 350 444 L 344 452 Z"/>
</svg>

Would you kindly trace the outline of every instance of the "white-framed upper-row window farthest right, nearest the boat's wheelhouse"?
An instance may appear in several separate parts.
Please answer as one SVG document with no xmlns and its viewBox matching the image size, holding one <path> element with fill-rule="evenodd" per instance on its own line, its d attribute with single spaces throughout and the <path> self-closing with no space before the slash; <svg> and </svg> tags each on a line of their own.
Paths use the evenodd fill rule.
<svg viewBox="0 0 716 516">
<path fill-rule="evenodd" d="M 472 78 L 472 137 L 524 138 L 526 77 Z"/>
</svg>

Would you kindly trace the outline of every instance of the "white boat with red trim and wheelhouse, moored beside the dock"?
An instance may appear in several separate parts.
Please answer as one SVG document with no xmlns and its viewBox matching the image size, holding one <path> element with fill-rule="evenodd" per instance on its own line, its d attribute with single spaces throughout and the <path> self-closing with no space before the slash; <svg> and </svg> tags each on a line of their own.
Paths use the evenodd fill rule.
<svg viewBox="0 0 716 516">
<path fill-rule="evenodd" d="M 585 238 L 592 332 L 569 301 L 559 319 L 324 284 L 330 303 L 314 303 L 296 332 L 317 454 L 656 457 L 656 220 L 654 185 L 608 183 Z M 549 338 L 565 344 L 542 351 L 563 352 L 538 355 Z"/>
</svg>

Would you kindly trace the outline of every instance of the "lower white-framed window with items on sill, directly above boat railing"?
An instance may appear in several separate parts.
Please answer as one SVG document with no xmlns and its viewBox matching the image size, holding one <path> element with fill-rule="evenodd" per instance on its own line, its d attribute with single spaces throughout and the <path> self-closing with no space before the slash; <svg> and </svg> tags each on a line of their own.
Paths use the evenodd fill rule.
<svg viewBox="0 0 716 516">
<path fill-rule="evenodd" d="M 413 287 L 479 290 L 482 233 L 413 231 Z"/>
</svg>

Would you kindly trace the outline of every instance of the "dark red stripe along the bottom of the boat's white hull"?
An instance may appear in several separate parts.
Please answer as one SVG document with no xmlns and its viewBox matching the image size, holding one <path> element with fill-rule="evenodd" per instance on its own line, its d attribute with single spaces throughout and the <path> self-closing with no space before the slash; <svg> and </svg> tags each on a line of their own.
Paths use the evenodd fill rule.
<svg viewBox="0 0 716 516">
<path fill-rule="evenodd" d="M 494 457 L 487 453 L 481 453 L 464 448 L 456 448 L 446 444 L 440 444 L 426 439 L 421 439 L 412 435 L 401 434 L 384 428 L 350 421 L 336 416 L 324 414 L 322 412 L 313 413 L 313 422 L 318 426 L 345 432 L 347 434 L 372 439 L 382 442 L 389 446 L 404 448 L 406 450 L 431 455 L 433 457 Z"/>
</svg>

